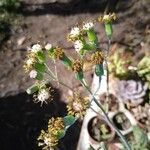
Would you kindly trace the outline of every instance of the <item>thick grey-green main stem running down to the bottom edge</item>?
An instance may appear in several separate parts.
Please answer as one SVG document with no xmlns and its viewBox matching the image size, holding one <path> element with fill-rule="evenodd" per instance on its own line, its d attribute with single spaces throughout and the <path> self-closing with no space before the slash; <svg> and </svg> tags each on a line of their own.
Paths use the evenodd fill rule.
<svg viewBox="0 0 150 150">
<path fill-rule="evenodd" d="M 101 109 L 101 111 L 104 114 L 104 117 L 107 121 L 107 123 L 116 131 L 116 133 L 118 134 L 118 136 L 121 138 L 121 141 L 124 143 L 125 147 L 127 148 L 127 150 L 132 150 L 130 145 L 128 144 L 128 142 L 126 141 L 125 137 L 122 135 L 122 133 L 119 131 L 119 129 L 113 124 L 113 122 L 109 119 L 107 113 L 105 112 L 105 110 L 103 109 L 103 107 L 101 106 L 101 104 L 99 104 L 99 102 L 97 101 L 97 99 L 95 98 L 95 96 L 93 96 L 93 93 L 91 92 L 91 90 L 89 89 L 88 86 L 85 85 L 84 82 L 81 81 L 81 84 L 86 88 L 86 90 L 90 93 L 90 95 L 93 97 L 94 102 L 97 104 L 97 106 Z M 99 114 L 99 113 L 98 113 Z"/>
</svg>

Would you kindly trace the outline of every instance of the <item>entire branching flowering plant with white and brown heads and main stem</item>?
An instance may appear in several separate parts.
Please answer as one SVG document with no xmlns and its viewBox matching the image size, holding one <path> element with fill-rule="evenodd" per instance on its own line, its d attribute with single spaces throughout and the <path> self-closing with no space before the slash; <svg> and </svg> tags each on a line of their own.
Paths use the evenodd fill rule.
<svg viewBox="0 0 150 150">
<path fill-rule="evenodd" d="M 29 76 L 35 79 L 35 83 L 27 89 L 28 94 L 34 94 L 34 101 L 43 103 L 48 103 L 53 100 L 53 90 L 49 87 L 49 83 L 56 82 L 67 87 L 72 91 L 72 96 L 68 96 L 67 111 L 68 115 L 65 117 L 51 118 L 48 122 L 48 128 L 46 131 L 42 130 L 38 138 L 39 146 L 43 149 L 55 149 L 58 141 L 63 138 L 66 134 L 67 129 L 79 118 L 83 118 L 86 110 L 91 108 L 91 101 L 102 111 L 99 115 L 103 115 L 106 122 L 114 128 L 116 133 L 122 139 L 122 142 L 128 150 L 130 146 L 125 140 L 121 132 L 114 126 L 114 124 L 109 119 L 107 113 L 105 112 L 103 106 L 95 98 L 97 92 L 92 92 L 89 84 L 86 81 L 84 74 L 84 65 L 87 56 L 89 56 L 89 61 L 94 67 L 94 73 L 101 80 L 101 76 L 104 74 L 104 70 L 108 71 L 107 64 L 107 54 L 109 52 L 109 47 L 111 43 L 111 38 L 113 34 L 112 21 L 116 19 L 116 15 L 108 14 L 100 16 L 98 19 L 84 22 L 82 26 L 76 26 L 72 28 L 71 32 L 68 34 L 68 41 L 73 42 L 74 48 L 79 56 L 78 59 L 73 59 L 65 53 L 63 48 L 59 46 L 53 46 L 48 43 L 45 46 L 35 44 L 29 50 L 27 54 L 27 60 L 25 61 L 25 71 L 29 73 Z M 103 50 L 98 42 L 98 37 L 94 30 L 94 25 L 96 23 L 103 23 L 106 36 L 108 38 L 108 49 Z M 54 70 L 48 65 L 48 60 L 51 60 L 54 65 Z M 75 79 L 78 80 L 86 91 L 90 94 L 92 99 L 84 97 L 80 91 L 75 91 L 63 81 L 58 78 L 56 62 L 61 61 L 65 68 L 70 72 L 73 72 Z M 108 80 L 108 76 L 107 76 Z M 100 83 L 99 83 L 100 84 Z M 99 88 L 99 86 L 98 86 Z"/>
</svg>

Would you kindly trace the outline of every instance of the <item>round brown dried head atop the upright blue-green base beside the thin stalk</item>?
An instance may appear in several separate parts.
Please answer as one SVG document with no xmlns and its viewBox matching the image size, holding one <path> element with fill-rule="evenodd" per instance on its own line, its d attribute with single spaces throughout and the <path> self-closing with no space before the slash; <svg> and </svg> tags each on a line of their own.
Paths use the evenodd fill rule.
<svg viewBox="0 0 150 150">
<path fill-rule="evenodd" d="M 92 54 L 91 62 L 93 64 L 102 64 L 103 61 L 104 61 L 104 56 L 103 56 L 103 53 L 101 51 L 97 51 L 97 52 Z"/>
</svg>

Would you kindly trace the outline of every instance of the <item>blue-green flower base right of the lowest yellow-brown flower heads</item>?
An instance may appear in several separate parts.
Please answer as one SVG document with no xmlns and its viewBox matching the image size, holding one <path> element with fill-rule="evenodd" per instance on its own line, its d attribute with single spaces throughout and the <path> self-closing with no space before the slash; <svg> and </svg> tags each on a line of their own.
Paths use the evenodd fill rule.
<svg viewBox="0 0 150 150">
<path fill-rule="evenodd" d="M 69 128 L 71 125 L 73 125 L 76 121 L 76 118 L 74 116 L 68 115 L 64 117 L 64 124 L 66 129 Z"/>
</svg>

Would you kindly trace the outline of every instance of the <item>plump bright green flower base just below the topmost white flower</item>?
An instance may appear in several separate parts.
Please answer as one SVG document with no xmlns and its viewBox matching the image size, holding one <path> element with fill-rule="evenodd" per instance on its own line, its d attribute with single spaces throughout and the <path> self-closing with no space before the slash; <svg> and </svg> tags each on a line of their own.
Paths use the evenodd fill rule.
<svg viewBox="0 0 150 150">
<path fill-rule="evenodd" d="M 87 36 L 90 42 L 94 43 L 95 45 L 98 45 L 98 38 L 93 29 L 87 30 Z"/>
</svg>

